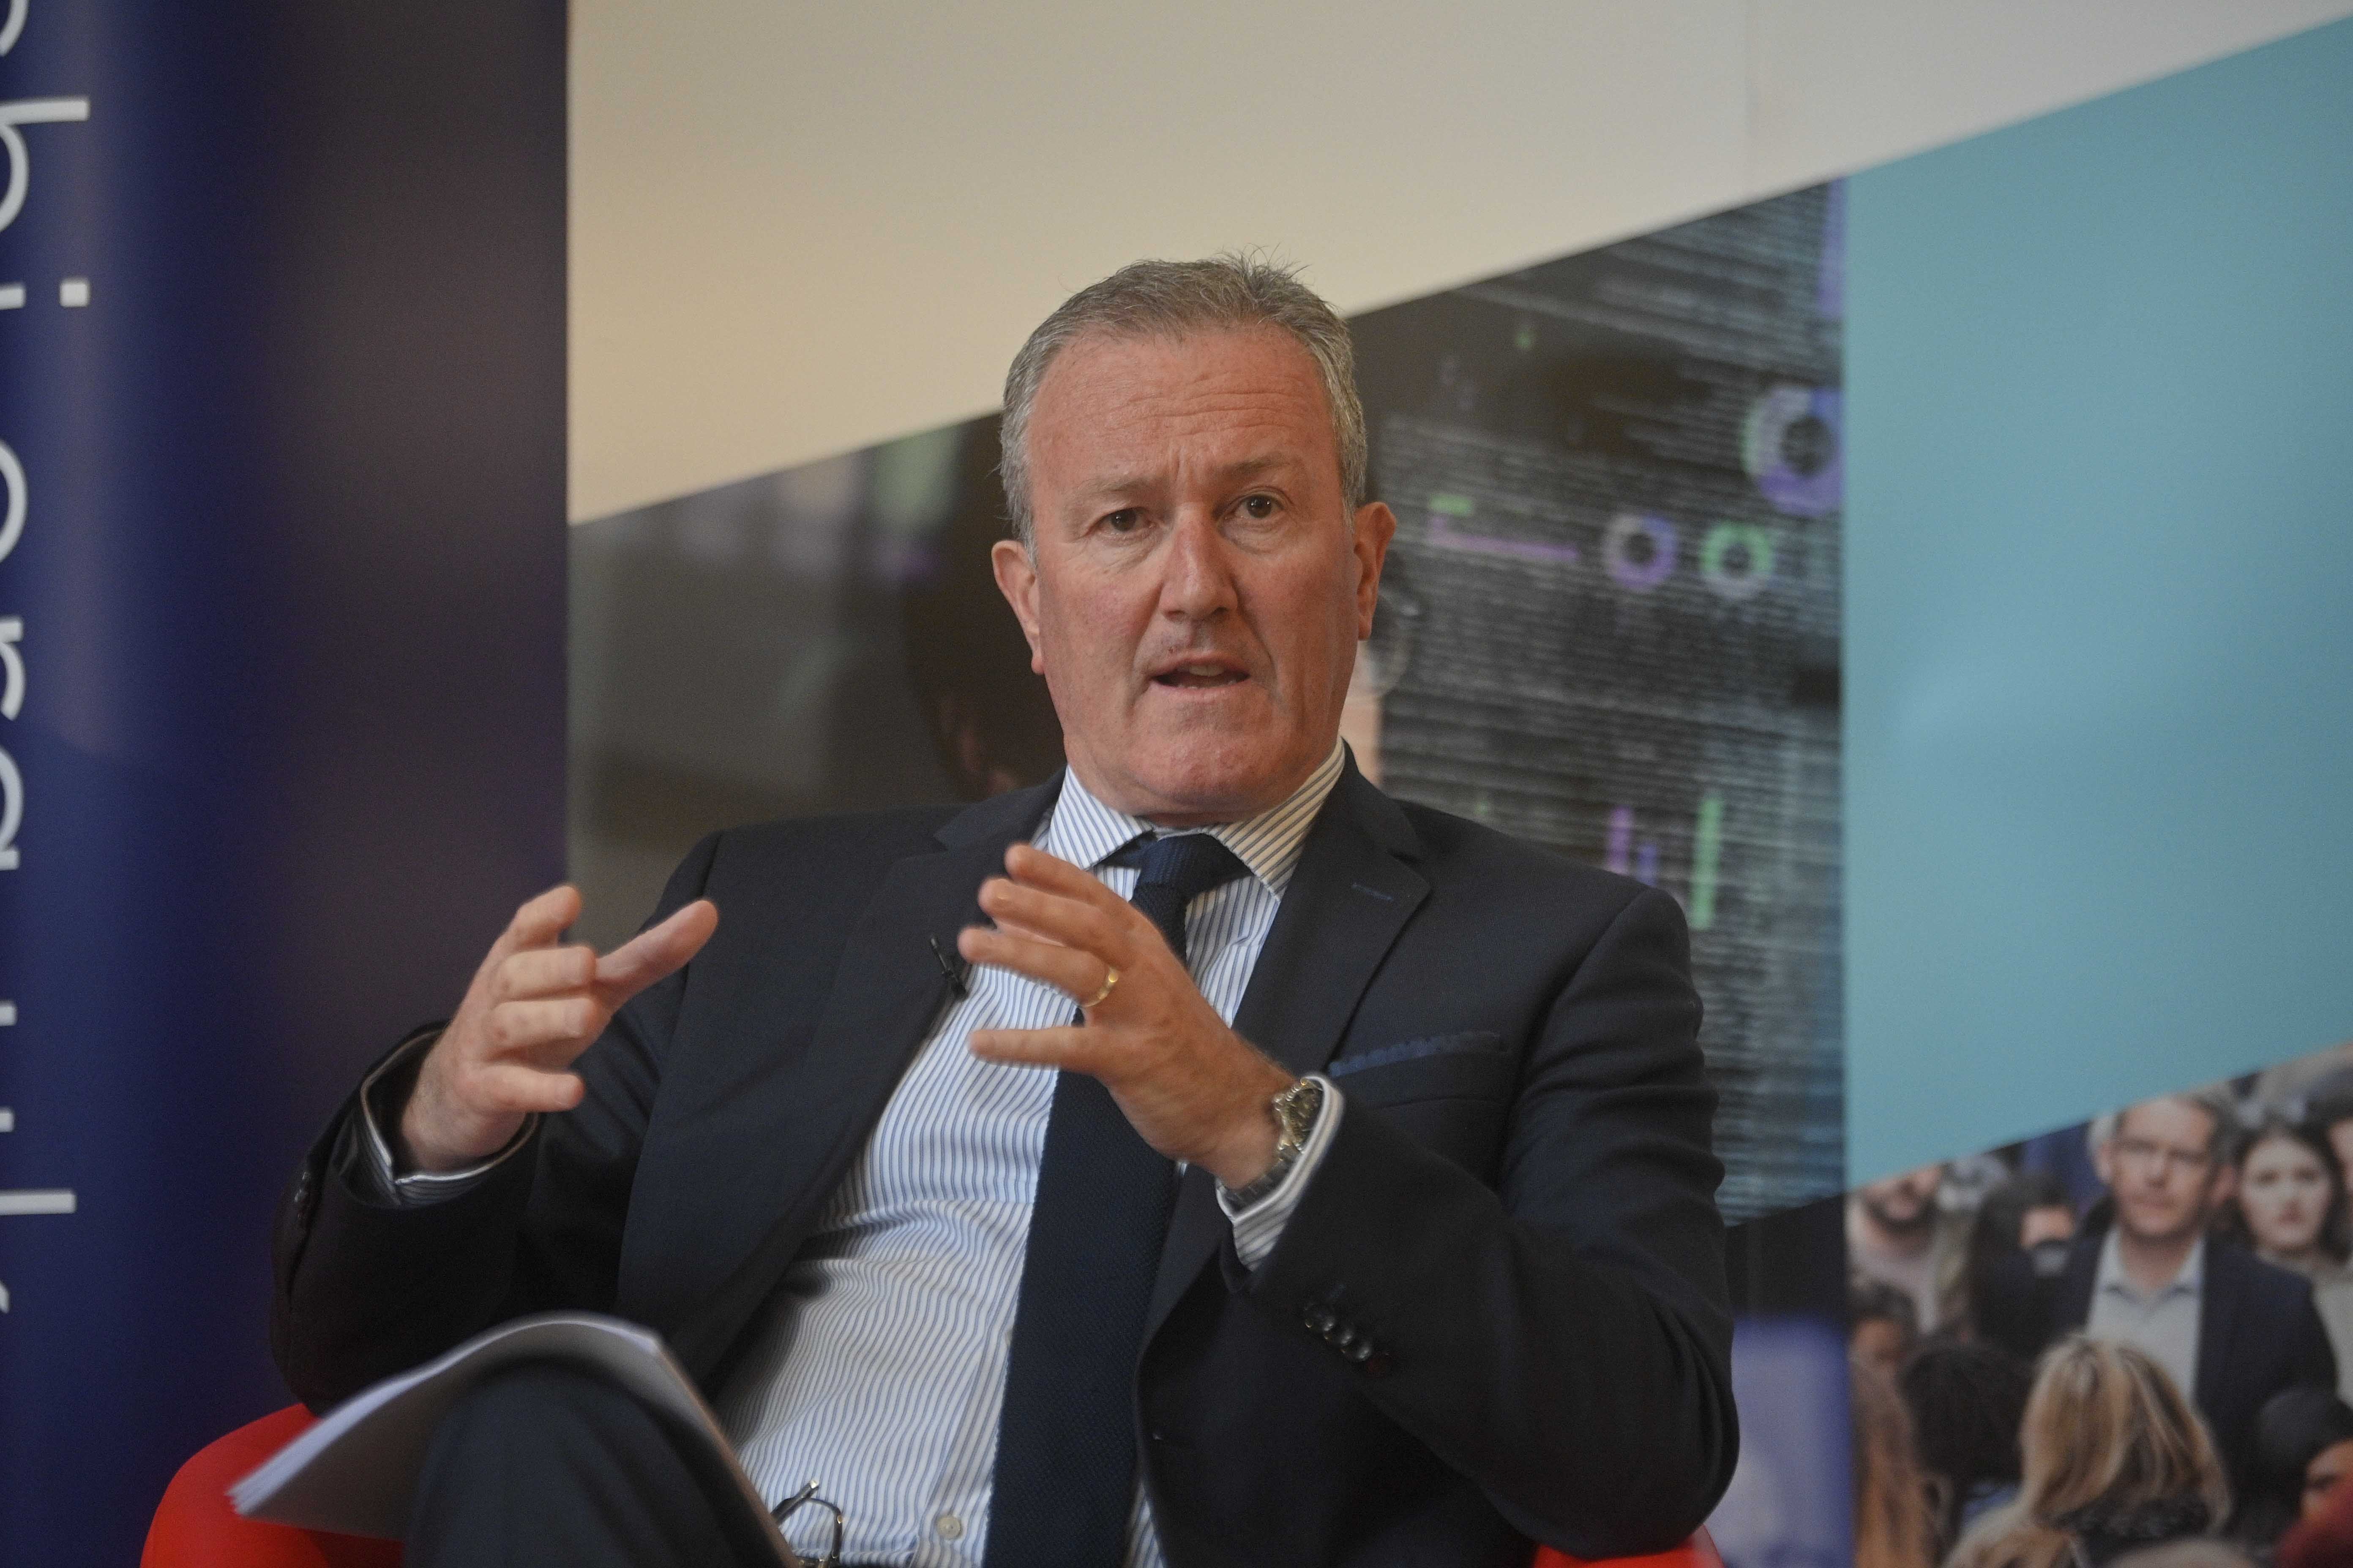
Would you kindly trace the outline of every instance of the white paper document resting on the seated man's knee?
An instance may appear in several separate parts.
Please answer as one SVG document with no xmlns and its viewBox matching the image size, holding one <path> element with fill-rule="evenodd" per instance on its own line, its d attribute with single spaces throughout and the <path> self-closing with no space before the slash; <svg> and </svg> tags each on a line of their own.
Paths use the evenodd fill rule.
<svg viewBox="0 0 2353 1568">
<path fill-rule="evenodd" d="M 513 1361 L 572 1361 L 598 1368 L 680 1432 L 708 1441 L 751 1507 L 767 1514 L 767 1505 L 736 1467 L 718 1418 L 694 1389 L 694 1380 L 664 1349 L 661 1338 L 638 1324 L 584 1312 L 544 1312 L 499 1324 L 440 1361 L 353 1394 L 273 1453 L 261 1469 L 231 1486 L 228 1500 L 247 1519 L 400 1537 L 409 1528 L 409 1500 L 433 1429 L 466 1389 Z M 776 1561 L 786 1566 L 793 1561 L 781 1535 Z"/>
</svg>

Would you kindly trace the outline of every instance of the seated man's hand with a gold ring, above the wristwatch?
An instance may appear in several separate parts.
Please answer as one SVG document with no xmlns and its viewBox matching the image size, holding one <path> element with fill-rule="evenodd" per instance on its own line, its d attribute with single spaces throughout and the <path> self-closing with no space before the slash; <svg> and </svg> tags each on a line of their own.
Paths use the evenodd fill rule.
<svg viewBox="0 0 2353 1568">
<path fill-rule="evenodd" d="M 972 1053 L 991 1063 L 1066 1067 L 1104 1081 L 1144 1143 L 1207 1168 L 1240 1190 L 1275 1164 L 1266 1103 L 1289 1072 L 1226 1027 L 1202 999 L 1160 929 L 1089 872 L 1042 849 L 1005 851 L 1005 877 L 981 884 L 981 912 L 955 950 L 1042 980 L 1073 1001 L 1104 990 L 1085 1025 L 974 1030 Z"/>
</svg>

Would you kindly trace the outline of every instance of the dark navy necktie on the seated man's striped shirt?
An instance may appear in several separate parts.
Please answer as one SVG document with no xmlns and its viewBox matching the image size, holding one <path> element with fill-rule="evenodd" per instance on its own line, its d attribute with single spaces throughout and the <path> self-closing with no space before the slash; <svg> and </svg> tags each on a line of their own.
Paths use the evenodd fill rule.
<svg viewBox="0 0 2353 1568">
<path fill-rule="evenodd" d="M 1207 832 L 1129 844 L 1134 905 L 1184 957 L 1184 912 L 1247 867 Z M 1005 1371 L 988 1568 L 1118 1568 L 1136 1488 L 1136 1354 L 1176 1166 L 1082 1072 L 1054 1079 Z"/>
</svg>

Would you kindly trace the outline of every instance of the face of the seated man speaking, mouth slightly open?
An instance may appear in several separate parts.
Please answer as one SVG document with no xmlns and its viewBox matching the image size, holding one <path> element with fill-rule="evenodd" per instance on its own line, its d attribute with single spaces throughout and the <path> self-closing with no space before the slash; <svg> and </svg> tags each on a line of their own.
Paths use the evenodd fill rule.
<svg viewBox="0 0 2353 1568">
<path fill-rule="evenodd" d="M 995 548 L 1073 769 L 1179 827 L 1332 750 L 1395 517 L 1351 520 L 1332 411 L 1278 329 L 1087 336 L 1028 425 L 1035 555 Z M 1351 527 L 1353 522 L 1353 527 Z"/>
</svg>

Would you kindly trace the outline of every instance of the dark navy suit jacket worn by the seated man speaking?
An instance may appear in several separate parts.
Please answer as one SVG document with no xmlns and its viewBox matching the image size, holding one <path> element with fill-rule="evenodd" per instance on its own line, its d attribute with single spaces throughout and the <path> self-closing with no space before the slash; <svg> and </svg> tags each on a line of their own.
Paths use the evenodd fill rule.
<svg viewBox="0 0 2353 1568">
<path fill-rule="evenodd" d="M 588 1048 L 581 1107 L 461 1197 L 372 1201 L 332 1159 L 346 1105 L 278 1222 L 294 1392 L 553 1307 L 661 1331 L 715 1389 L 948 1004 L 929 938 L 979 919 L 1052 799 L 706 839 L 661 912 L 708 896 L 718 936 Z M 1675 903 L 1351 766 L 1235 1027 L 1348 1110 L 1257 1272 L 1212 1178 L 1179 1190 L 1136 1366 L 1169 1563 L 1525 1568 L 1529 1540 L 1687 1535 L 1739 1439 Z"/>
</svg>

